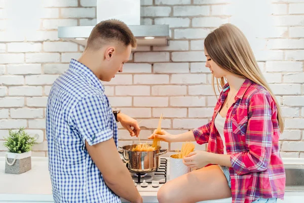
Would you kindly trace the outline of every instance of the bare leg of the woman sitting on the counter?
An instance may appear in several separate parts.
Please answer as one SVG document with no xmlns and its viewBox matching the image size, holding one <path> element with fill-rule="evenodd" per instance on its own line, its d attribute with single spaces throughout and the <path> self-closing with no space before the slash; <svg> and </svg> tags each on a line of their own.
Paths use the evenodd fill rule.
<svg viewBox="0 0 304 203">
<path fill-rule="evenodd" d="M 211 165 L 164 184 L 157 195 L 160 203 L 191 203 L 231 197 L 231 189 L 219 166 Z"/>
</svg>

